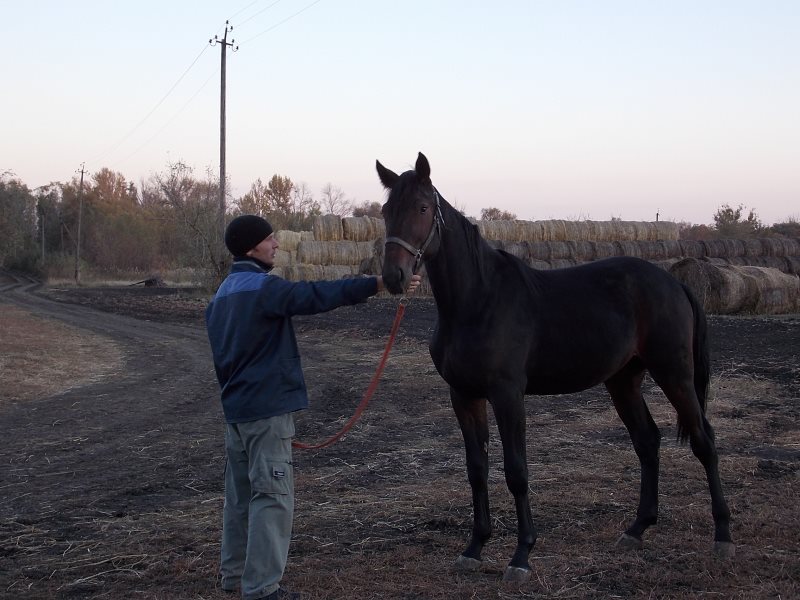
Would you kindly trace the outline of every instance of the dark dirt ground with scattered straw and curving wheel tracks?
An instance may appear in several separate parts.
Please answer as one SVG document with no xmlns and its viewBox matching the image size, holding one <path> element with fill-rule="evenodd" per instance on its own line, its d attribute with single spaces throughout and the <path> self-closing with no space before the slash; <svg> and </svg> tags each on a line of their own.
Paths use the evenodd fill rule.
<svg viewBox="0 0 800 600">
<path fill-rule="evenodd" d="M 216 586 L 222 415 L 198 293 L 47 289 L 0 276 L 0 597 L 230 598 Z M 350 416 L 396 304 L 295 326 L 312 408 L 298 438 Z M 635 512 L 638 462 L 603 389 L 527 400 L 533 577 L 501 582 L 516 519 L 493 431 L 495 535 L 476 573 L 453 569 L 471 525 L 463 447 L 427 354 L 431 299 L 413 299 L 366 414 L 321 451 L 295 451 L 286 587 L 309 599 L 800 597 L 800 317 L 711 317 L 713 399 L 736 557 L 710 553 L 702 468 L 664 434 L 659 524 Z"/>
</svg>

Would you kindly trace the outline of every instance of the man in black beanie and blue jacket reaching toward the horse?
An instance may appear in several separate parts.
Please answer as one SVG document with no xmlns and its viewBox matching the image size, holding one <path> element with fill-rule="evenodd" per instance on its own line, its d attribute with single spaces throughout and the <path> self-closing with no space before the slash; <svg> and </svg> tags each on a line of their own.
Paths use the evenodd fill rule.
<svg viewBox="0 0 800 600">
<path fill-rule="evenodd" d="M 280 587 L 294 514 L 292 413 L 308 395 L 291 317 L 365 302 L 381 277 L 289 282 L 269 274 L 278 242 L 272 226 L 242 215 L 225 230 L 231 272 L 206 309 L 225 414 L 223 590 L 244 600 L 299 598 Z M 419 286 L 412 278 L 409 292 Z"/>
</svg>

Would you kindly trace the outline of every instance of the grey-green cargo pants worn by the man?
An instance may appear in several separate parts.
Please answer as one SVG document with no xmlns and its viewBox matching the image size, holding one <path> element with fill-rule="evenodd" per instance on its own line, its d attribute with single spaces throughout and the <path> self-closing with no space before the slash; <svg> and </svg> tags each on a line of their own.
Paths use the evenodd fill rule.
<svg viewBox="0 0 800 600">
<path fill-rule="evenodd" d="M 278 589 L 289 556 L 294 516 L 292 414 L 225 430 L 222 588 L 241 586 L 254 600 Z"/>
</svg>

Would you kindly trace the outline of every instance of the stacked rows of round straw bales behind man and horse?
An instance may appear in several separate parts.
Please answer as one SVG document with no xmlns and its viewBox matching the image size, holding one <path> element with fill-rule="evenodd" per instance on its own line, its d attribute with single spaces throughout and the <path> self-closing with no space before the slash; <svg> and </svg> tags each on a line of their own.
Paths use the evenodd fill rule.
<svg viewBox="0 0 800 600">
<path fill-rule="evenodd" d="M 800 240 L 679 240 L 678 225 L 642 221 L 476 221 L 481 235 L 540 270 L 635 256 L 671 272 L 716 314 L 800 312 Z M 275 273 L 292 281 L 378 274 L 386 229 L 375 217 L 317 217 L 278 231 Z M 419 291 L 431 293 L 427 281 Z"/>
</svg>

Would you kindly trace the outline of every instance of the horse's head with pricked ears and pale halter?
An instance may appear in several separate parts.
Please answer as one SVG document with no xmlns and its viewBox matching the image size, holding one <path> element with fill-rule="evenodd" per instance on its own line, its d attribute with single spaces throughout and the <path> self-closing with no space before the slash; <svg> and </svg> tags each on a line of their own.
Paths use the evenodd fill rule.
<svg viewBox="0 0 800 600">
<path fill-rule="evenodd" d="M 389 190 L 383 205 L 386 251 L 383 282 L 392 294 L 408 287 L 424 258 L 436 254 L 441 240 L 439 194 L 431 183 L 431 166 L 420 152 L 413 171 L 397 175 L 375 161 L 378 177 Z"/>
</svg>

